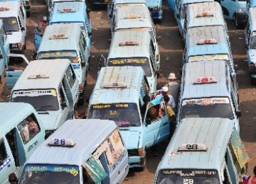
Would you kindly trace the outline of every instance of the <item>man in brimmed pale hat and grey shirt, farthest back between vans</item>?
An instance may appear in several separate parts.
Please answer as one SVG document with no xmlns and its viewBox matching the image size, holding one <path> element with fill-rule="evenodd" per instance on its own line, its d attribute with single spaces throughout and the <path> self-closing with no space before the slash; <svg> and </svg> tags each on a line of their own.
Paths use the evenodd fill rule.
<svg viewBox="0 0 256 184">
<path fill-rule="evenodd" d="M 168 79 L 170 80 L 166 86 L 169 88 L 169 94 L 174 97 L 174 101 L 178 104 L 178 93 L 180 90 L 180 84 L 176 81 L 176 76 L 174 73 L 169 74 Z"/>
</svg>

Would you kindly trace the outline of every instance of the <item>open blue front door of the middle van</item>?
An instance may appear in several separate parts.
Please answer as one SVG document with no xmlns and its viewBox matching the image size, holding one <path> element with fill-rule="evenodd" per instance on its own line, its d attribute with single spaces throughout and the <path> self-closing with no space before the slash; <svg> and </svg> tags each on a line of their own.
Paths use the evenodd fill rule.
<svg viewBox="0 0 256 184">
<path fill-rule="evenodd" d="M 159 99 L 152 100 L 150 102 L 151 105 L 146 109 L 146 115 L 144 117 L 146 147 L 167 139 L 170 134 L 169 118 L 166 115 L 165 107 L 162 117 L 159 117 L 159 110 L 161 110 L 160 103 L 162 102 L 159 102 Z"/>
</svg>

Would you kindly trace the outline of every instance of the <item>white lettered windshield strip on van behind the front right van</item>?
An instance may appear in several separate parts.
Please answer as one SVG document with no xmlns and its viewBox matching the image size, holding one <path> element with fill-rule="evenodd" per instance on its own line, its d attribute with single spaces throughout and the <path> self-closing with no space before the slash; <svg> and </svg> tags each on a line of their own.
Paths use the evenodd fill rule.
<svg viewBox="0 0 256 184">
<path fill-rule="evenodd" d="M 183 100 L 183 105 L 197 104 L 197 105 L 212 105 L 216 103 L 229 103 L 228 98 L 198 98 L 198 99 L 189 99 Z"/>
</svg>

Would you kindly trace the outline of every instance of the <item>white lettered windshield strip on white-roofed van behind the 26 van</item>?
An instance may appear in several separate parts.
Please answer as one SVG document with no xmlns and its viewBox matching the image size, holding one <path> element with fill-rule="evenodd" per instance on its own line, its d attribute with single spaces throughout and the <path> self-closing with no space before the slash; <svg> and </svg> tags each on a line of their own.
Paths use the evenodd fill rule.
<svg viewBox="0 0 256 184">
<path fill-rule="evenodd" d="M 57 96 L 57 92 L 54 89 L 45 90 L 31 90 L 31 91 L 14 91 L 12 98 L 17 96 Z"/>
</svg>

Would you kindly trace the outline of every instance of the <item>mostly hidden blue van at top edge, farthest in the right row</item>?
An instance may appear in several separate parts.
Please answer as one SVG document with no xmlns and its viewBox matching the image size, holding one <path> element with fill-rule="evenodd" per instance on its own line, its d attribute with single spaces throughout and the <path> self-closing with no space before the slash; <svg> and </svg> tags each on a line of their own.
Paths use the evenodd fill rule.
<svg viewBox="0 0 256 184">
<path fill-rule="evenodd" d="M 203 2 L 213 2 L 213 0 L 174 0 L 174 16 L 178 24 L 178 33 L 181 37 L 183 37 L 186 9 L 188 8 L 188 5 Z"/>
</svg>

